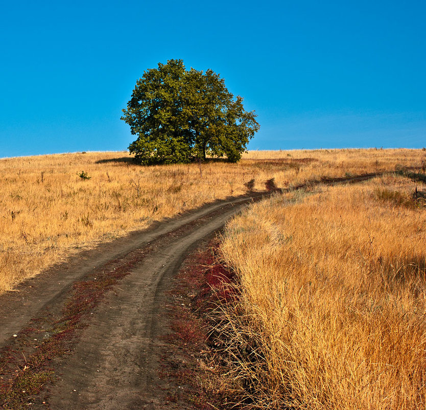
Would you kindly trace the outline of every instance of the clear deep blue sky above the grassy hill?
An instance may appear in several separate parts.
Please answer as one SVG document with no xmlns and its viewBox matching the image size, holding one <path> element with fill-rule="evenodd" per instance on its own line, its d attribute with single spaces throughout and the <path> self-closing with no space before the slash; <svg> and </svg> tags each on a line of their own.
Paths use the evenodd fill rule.
<svg viewBox="0 0 426 410">
<path fill-rule="evenodd" d="M 137 78 L 212 69 L 250 149 L 426 146 L 424 1 L 23 1 L 0 13 L 0 157 L 121 150 Z"/>
</svg>

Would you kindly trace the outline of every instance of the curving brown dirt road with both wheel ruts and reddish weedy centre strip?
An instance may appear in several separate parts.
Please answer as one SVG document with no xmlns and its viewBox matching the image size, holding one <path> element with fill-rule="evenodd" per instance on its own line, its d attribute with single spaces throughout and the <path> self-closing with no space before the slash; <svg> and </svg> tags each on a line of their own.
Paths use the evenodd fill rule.
<svg viewBox="0 0 426 410">
<path fill-rule="evenodd" d="M 169 381 L 158 374 L 173 277 L 188 253 L 265 195 L 157 223 L 2 295 L 0 408 L 162 408 Z"/>
</svg>

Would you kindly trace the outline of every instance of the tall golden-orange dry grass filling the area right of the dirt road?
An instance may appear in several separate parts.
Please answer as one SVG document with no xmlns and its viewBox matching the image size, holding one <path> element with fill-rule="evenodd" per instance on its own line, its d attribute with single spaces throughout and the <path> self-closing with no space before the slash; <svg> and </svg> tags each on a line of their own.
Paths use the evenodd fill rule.
<svg viewBox="0 0 426 410">
<path fill-rule="evenodd" d="M 414 188 L 387 176 L 276 195 L 228 224 L 221 250 L 242 295 L 221 331 L 243 408 L 426 408 Z"/>
</svg>

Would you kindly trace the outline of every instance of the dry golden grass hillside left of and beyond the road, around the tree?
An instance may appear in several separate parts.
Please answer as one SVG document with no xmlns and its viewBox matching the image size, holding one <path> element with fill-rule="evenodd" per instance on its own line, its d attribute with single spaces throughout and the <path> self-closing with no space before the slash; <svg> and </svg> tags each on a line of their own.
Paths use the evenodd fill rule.
<svg viewBox="0 0 426 410">
<path fill-rule="evenodd" d="M 238 164 L 141 167 L 126 152 L 0 159 L 0 292 L 153 220 L 255 189 L 426 163 L 421 150 L 250 152 Z M 83 180 L 84 171 L 91 177 Z"/>
</svg>

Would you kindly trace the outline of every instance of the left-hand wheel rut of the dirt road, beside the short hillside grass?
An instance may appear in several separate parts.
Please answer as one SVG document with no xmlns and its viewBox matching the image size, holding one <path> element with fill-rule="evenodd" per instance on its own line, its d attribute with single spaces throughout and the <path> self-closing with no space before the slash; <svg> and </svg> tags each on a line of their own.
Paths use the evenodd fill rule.
<svg viewBox="0 0 426 410">
<path fill-rule="evenodd" d="M 25 328 L 39 312 L 46 308 L 55 309 L 62 304 L 67 293 L 72 290 L 74 282 L 84 278 L 94 269 L 161 239 L 163 235 L 194 223 L 211 212 L 220 211 L 224 206 L 237 206 L 252 199 L 261 199 L 265 195 L 267 195 L 265 192 L 256 192 L 206 204 L 176 218 L 153 223 L 143 231 L 135 231 L 124 238 L 100 244 L 96 249 L 82 251 L 66 262 L 53 266 L 42 275 L 26 280 L 17 286 L 16 292 L 0 296 L 0 348 L 10 341 L 13 334 Z"/>
</svg>

